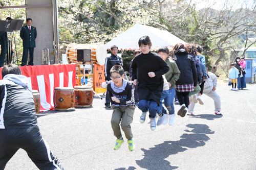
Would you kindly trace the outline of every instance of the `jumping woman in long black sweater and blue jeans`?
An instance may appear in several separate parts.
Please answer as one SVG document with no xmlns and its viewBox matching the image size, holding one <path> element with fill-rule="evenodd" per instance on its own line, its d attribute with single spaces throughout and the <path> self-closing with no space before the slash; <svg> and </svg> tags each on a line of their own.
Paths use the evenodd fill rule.
<svg viewBox="0 0 256 170">
<path fill-rule="evenodd" d="M 142 53 L 137 55 L 132 63 L 132 80 L 138 83 L 138 107 L 142 111 L 140 122 L 144 123 L 146 112 L 150 112 L 151 130 L 156 129 L 156 114 L 163 92 L 162 75 L 168 72 L 168 64 L 156 53 L 152 53 L 150 37 L 143 36 L 139 39 Z M 138 68 L 138 77 L 137 77 Z"/>
</svg>

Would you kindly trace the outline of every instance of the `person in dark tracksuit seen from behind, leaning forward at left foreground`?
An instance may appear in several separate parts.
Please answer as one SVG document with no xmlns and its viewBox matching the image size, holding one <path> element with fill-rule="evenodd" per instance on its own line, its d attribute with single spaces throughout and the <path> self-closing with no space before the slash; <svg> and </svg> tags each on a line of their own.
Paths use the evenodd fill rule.
<svg viewBox="0 0 256 170">
<path fill-rule="evenodd" d="M 0 80 L 0 169 L 21 148 L 39 169 L 63 169 L 42 138 L 29 80 L 17 65 L 5 65 Z"/>
</svg>

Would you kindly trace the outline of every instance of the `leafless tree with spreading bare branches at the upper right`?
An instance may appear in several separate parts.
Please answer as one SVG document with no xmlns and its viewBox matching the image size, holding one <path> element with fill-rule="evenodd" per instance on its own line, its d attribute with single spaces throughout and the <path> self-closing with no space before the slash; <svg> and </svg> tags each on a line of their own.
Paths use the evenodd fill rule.
<svg viewBox="0 0 256 170">
<path fill-rule="evenodd" d="M 219 57 L 214 63 L 213 72 L 217 70 L 219 62 L 224 58 L 225 52 L 233 49 L 233 38 L 248 33 L 255 33 L 256 29 L 256 5 L 253 2 L 250 6 L 246 6 L 246 1 L 240 3 L 231 3 L 226 1 L 219 10 L 211 7 L 199 11 L 199 29 L 193 36 L 201 37 L 202 44 L 207 44 L 207 38 L 215 39 L 214 45 L 204 52 L 205 55 L 211 55 L 215 51 L 219 51 Z M 249 47 L 251 44 L 245 43 Z"/>
</svg>

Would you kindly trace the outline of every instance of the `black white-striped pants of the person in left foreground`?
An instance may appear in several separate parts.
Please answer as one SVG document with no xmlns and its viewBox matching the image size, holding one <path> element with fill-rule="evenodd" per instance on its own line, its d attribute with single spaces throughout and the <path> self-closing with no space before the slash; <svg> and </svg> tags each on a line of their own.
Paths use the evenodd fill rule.
<svg viewBox="0 0 256 170">
<path fill-rule="evenodd" d="M 20 148 L 39 169 L 63 169 L 39 129 L 0 129 L 0 170 Z"/>
</svg>

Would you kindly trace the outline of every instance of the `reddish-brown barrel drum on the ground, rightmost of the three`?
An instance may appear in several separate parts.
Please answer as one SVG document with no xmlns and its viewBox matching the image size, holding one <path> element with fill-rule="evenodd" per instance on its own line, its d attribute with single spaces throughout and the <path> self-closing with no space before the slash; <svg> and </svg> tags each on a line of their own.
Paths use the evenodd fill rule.
<svg viewBox="0 0 256 170">
<path fill-rule="evenodd" d="M 75 107 L 92 107 L 93 88 L 91 86 L 75 86 Z"/>
</svg>

